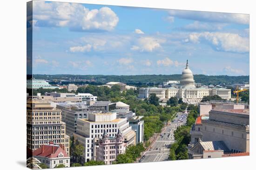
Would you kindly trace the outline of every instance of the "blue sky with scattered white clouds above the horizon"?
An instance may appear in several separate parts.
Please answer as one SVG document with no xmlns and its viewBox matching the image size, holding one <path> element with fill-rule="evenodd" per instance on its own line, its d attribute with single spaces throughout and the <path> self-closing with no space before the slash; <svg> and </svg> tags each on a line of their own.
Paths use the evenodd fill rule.
<svg viewBox="0 0 256 170">
<path fill-rule="evenodd" d="M 249 15 L 33 2 L 33 74 L 249 75 Z"/>
</svg>

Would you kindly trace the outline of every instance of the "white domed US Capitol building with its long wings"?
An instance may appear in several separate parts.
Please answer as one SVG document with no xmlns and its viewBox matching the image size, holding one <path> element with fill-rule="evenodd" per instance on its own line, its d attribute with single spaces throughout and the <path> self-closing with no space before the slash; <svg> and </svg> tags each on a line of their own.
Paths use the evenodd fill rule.
<svg viewBox="0 0 256 170">
<path fill-rule="evenodd" d="M 148 98 L 151 93 L 155 93 L 160 99 L 169 99 L 170 97 L 182 98 L 183 102 L 196 105 L 204 96 L 218 95 L 222 99 L 229 100 L 231 98 L 231 89 L 227 88 L 205 88 L 195 87 L 195 80 L 192 71 L 189 69 L 187 60 L 186 68 L 182 71 L 182 80 L 179 88 L 140 88 L 140 98 Z"/>
</svg>

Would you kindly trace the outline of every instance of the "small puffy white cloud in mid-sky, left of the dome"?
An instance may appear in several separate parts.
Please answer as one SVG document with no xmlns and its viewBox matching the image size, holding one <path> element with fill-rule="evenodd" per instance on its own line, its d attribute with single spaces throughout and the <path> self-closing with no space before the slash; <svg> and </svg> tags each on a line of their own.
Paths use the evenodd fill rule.
<svg viewBox="0 0 256 170">
<path fill-rule="evenodd" d="M 136 44 L 131 47 L 131 50 L 140 50 L 141 52 L 152 52 L 154 50 L 161 49 L 161 44 L 165 42 L 165 39 L 141 37 L 136 40 Z"/>
</svg>

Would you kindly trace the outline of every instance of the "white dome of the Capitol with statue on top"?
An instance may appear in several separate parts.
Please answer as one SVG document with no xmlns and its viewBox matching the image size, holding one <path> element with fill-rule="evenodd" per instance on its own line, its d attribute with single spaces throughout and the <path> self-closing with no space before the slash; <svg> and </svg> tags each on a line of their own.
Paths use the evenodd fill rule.
<svg viewBox="0 0 256 170">
<path fill-rule="evenodd" d="M 195 88 L 195 80 L 192 71 L 189 69 L 189 63 L 187 60 L 186 68 L 182 71 L 181 86 L 186 88 Z"/>
</svg>

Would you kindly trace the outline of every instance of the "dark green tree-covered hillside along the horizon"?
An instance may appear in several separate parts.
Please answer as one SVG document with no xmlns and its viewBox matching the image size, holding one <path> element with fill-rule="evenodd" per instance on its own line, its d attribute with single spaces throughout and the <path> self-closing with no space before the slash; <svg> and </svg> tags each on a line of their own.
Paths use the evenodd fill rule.
<svg viewBox="0 0 256 170">
<path fill-rule="evenodd" d="M 115 76 L 115 75 L 34 75 L 35 79 L 44 79 L 54 82 L 67 80 L 76 84 L 94 83 L 95 85 L 105 84 L 107 82 L 124 82 L 128 85 L 157 85 L 168 80 L 180 80 L 181 75 L 134 75 L 134 76 Z M 249 76 L 206 76 L 194 75 L 196 83 L 230 85 L 233 83 L 249 82 Z M 64 82 L 65 83 L 65 82 Z"/>
</svg>

